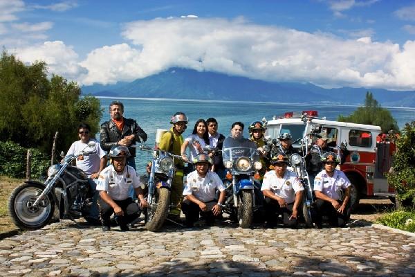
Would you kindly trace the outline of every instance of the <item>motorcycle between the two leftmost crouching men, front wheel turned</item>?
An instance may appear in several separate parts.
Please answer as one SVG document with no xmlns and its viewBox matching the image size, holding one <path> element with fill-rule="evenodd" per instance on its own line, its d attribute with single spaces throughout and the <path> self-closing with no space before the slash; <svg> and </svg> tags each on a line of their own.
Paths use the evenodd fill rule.
<svg viewBox="0 0 415 277">
<path fill-rule="evenodd" d="M 145 184 L 149 206 L 145 208 L 144 214 L 146 229 L 156 232 L 163 226 L 169 213 L 172 181 L 176 174 L 174 162 L 183 159 L 181 156 L 150 148 L 144 144 L 139 145 L 138 148 L 153 154 L 149 179 Z"/>
</svg>

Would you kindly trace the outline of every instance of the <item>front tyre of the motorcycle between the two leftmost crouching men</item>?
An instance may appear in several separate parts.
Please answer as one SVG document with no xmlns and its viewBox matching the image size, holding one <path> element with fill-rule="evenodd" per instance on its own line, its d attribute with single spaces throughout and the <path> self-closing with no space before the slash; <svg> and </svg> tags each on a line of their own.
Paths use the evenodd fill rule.
<svg viewBox="0 0 415 277">
<path fill-rule="evenodd" d="M 168 188 L 157 188 L 156 205 L 147 207 L 147 213 L 145 215 L 147 219 L 145 228 L 148 231 L 156 232 L 163 226 L 169 213 L 169 200 L 170 190 Z"/>
</svg>

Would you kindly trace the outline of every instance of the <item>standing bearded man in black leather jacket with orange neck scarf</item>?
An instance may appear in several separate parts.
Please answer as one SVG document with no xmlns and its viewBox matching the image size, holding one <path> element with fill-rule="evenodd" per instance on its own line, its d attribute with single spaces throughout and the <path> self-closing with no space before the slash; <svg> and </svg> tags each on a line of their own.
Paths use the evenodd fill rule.
<svg viewBox="0 0 415 277">
<path fill-rule="evenodd" d="M 130 146 L 142 140 L 147 141 L 147 134 L 138 126 L 136 120 L 131 118 L 124 118 L 124 105 L 120 101 L 113 101 L 109 105 L 109 114 L 111 120 L 102 123 L 100 130 L 100 144 L 101 148 L 107 152 L 111 150 L 114 145 L 127 146 L 131 157 L 127 159 L 129 166 L 136 169 L 136 148 Z"/>
</svg>

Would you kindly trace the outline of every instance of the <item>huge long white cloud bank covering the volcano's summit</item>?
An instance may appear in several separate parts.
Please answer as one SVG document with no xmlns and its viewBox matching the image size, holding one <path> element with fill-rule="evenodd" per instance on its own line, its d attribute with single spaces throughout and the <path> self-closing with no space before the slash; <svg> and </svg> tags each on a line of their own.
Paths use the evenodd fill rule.
<svg viewBox="0 0 415 277">
<path fill-rule="evenodd" d="M 324 87 L 415 89 L 415 42 L 410 41 L 400 48 L 370 37 L 341 39 L 242 18 L 134 21 L 122 35 L 131 45 L 95 49 L 81 63 L 88 70 L 82 83 L 131 81 L 178 66 Z"/>
</svg>

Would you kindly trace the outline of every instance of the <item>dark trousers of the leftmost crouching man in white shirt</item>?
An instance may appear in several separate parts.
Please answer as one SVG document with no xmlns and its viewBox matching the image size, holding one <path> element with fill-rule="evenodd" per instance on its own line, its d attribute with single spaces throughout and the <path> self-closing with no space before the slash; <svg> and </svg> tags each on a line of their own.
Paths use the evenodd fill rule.
<svg viewBox="0 0 415 277">
<path fill-rule="evenodd" d="M 138 207 L 137 203 L 133 202 L 133 199 L 130 197 L 124 200 L 114 200 L 114 202 L 116 202 L 116 204 L 120 206 L 124 212 L 124 215 L 117 216 L 117 222 L 120 224 L 120 226 L 127 226 L 127 224 L 138 217 L 138 211 L 140 211 L 140 208 Z M 98 201 L 98 204 L 100 205 L 102 226 L 110 226 L 109 217 L 111 217 L 111 215 L 114 213 L 114 209 L 109 206 L 107 202 L 104 202 L 104 200 L 101 198 Z"/>
</svg>

